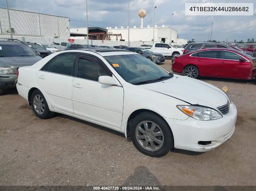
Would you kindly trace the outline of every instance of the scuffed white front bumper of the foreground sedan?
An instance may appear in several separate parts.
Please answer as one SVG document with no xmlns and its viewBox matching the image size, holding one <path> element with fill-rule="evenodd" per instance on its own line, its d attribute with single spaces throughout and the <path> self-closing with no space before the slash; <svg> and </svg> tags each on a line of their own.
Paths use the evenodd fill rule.
<svg viewBox="0 0 256 191">
<path fill-rule="evenodd" d="M 230 104 L 229 112 L 223 118 L 211 121 L 200 121 L 191 117 L 186 120 L 165 120 L 171 127 L 175 148 L 206 152 L 218 147 L 233 135 L 237 109 L 234 104 Z M 208 143 L 205 145 L 202 142 Z"/>
</svg>

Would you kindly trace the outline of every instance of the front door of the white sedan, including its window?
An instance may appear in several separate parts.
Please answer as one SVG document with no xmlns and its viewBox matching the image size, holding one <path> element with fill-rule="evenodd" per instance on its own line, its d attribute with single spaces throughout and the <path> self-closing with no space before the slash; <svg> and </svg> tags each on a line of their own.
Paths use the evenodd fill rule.
<svg viewBox="0 0 256 191">
<path fill-rule="evenodd" d="M 81 55 L 72 81 L 74 114 L 92 122 L 121 128 L 124 90 L 121 86 L 100 84 L 99 76 L 112 76 L 104 63 Z"/>
</svg>

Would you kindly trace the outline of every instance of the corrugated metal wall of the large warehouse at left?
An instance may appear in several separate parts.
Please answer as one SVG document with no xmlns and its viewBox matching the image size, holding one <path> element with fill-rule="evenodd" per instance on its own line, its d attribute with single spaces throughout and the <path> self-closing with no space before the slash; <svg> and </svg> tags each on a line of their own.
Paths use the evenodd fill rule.
<svg viewBox="0 0 256 191">
<path fill-rule="evenodd" d="M 48 14 L 9 9 L 13 35 L 69 38 L 69 19 Z M 0 7 L 0 34 L 9 34 L 7 9 Z"/>
</svg>

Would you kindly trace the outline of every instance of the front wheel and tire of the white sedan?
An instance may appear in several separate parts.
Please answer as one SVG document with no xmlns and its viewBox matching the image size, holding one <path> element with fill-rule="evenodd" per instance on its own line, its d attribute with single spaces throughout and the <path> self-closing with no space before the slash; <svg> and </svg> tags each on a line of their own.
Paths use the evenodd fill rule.
<svg viewBox="0 0 256 191">
<path fill-rule="evenodd" d="M 138 151 L 151 157 L 163 157 L 174 146 L 170 127 L 154 113 L 143 112 L 131 119 L 130 135 Z"/>
</svg>

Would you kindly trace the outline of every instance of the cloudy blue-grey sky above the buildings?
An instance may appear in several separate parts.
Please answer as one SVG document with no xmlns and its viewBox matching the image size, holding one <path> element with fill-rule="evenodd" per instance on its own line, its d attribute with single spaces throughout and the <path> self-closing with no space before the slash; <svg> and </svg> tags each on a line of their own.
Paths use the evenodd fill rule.
<svg viewBox="0 0 256 191">
<path fill-rule="evenodd" d="M 256 40 L 256 1 L 255 0 L 87 0 L 88 27 L 128 26 L 128 1 L 130 1 L 130 27 L 140 27 L 139 9 L 147 11 L 144 27 L 155 24 L 171 27 L 178 31 L 179 38 L 188 40 L 247 41 Z M 185 3 L 254 3 L 253 16 L 185 16 Z M 0 0 L 0 7 L 6 7 Z M 8 0 L 8 7 L 24 11 L 34 11 L 70 18 L 70 28 L 86 27 L 86 0 Z"/>
</svg>

